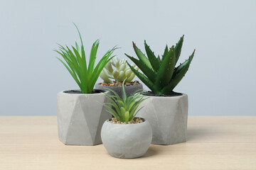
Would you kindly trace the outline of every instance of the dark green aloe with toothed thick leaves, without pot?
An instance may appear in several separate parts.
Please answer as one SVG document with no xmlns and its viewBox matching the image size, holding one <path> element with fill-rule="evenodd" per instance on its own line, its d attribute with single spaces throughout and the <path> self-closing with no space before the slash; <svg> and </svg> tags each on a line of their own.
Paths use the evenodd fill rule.
<svg viewBox="0 0 256 170">
<path fill-rule="evenodd" d="M 176 43 L 175 46 L 173 45 L 171 48 L 168 48 L 166 45 L 164 55 L 162 55 L 161 58 L 159 55 L 158 57 L 154 55 L 154 52 L 151 51 L 149 45 L 146 44 L 146 40 L 144 41 L 144 45 L 147 57 L 141 50 L 139 50 L 134 42 L 132 42 L 134 51 L 139 60 L 125 54 L 137 65 L 137 67 L 139 67 L 139 69 L 142 70 L 144 74 L 138 72 L 129 63 L 127 63 L 132 69 L 132 72 L 134 72 L 134 74 L 136 74 L 137 77 L 142 80 L 154 94 L 171 94 L 174 87 L 176 87 L 188 71 L 188 67 L 191 64 L 195 50 L 192 55 L 188 57 L 188 60 L 179 64 L 178 67 L 175 67 L 178 62 L 178 58 L 181 55 L 183 37 L 184 35 L 180 40 L 178 40 L 178 43 Z"/>
</svg>

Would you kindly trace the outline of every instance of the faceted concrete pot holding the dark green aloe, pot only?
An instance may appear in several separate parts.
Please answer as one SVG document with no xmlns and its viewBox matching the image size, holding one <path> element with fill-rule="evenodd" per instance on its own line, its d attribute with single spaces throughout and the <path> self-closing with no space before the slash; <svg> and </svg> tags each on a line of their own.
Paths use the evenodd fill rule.
<svg viewBox="0 0 256 170">
<path fill-rule="evenodd" d="M 172 145 L 186 142 L 188 120 L 188 96 L 146 96 L 137 116 L 149 121 L 153 138 L 152 144 Z"/>
</svg>

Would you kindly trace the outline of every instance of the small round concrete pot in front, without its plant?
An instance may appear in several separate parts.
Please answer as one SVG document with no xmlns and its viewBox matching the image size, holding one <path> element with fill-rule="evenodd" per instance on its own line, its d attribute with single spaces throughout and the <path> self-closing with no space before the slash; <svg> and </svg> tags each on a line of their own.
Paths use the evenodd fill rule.
<svg viewBox="0 0 256 170">
<path fill-rule="evenodd" d="M 112 157 L 142 157 L 151 140 L 152 130 L 147 120 L 137 124 L 114 124 L 106 120 L 102 126 L 102 143 Z"/>
</svg>

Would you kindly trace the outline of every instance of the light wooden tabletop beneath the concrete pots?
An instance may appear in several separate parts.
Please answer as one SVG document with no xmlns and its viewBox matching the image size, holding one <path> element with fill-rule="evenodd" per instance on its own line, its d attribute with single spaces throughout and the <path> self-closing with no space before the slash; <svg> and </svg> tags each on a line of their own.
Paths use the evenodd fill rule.
<svg viewBox="0 0 256 170">
<path fill-rule="evenodd" d="M 189 116 L 187 138 L 117 159 L 103 145 L 63 145 L 56 117 L 0 117 L 0 169 L 256 169 L 256 116 Z"/>
</svg>

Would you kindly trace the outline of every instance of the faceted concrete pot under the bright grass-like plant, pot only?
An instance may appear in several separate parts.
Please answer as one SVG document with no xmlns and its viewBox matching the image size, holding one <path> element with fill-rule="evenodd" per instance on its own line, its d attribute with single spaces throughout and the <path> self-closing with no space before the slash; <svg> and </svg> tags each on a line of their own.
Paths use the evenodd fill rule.
<svg viewBox="0 0 256 170">
<path fill-rule="evenodd" d="M 102 124 L 112 117 L 102 106 L 105 102 L 109 101 L 100 93 L 70 94 L 65 91 L 58 93 L 59 140 L 65 145 L 101 144 Z"/>
</svg>

